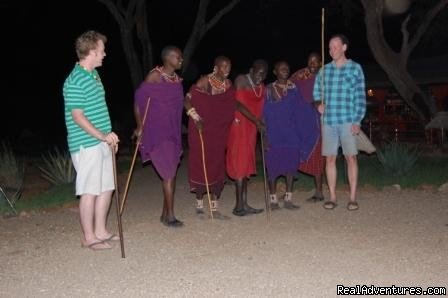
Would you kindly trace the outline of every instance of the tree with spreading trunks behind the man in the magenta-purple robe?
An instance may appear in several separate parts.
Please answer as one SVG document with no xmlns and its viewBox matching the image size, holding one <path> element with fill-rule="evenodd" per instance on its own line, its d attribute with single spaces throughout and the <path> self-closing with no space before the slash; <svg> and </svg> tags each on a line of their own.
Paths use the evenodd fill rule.
<svg viewBox="0 0 448 298">
<path fill-rule="evenodd" d="M 154 52 L 149 33 L 149 16 L 147 0 L 98 0 L 104 4 L 118 23 L 121 44 L 135 88 L 153 67 Z M 124 3 L 126 2 L 126 3 Z M 185 72 L 191 62 L 194 51 L 205 34 L 212 29 L 222 17 L 229 13 L 241 0 L 232 0 L 207 19 L 210 0 L 199 0 L 196 19 L 190 36 L 183 49 Z"/>
</svg>

